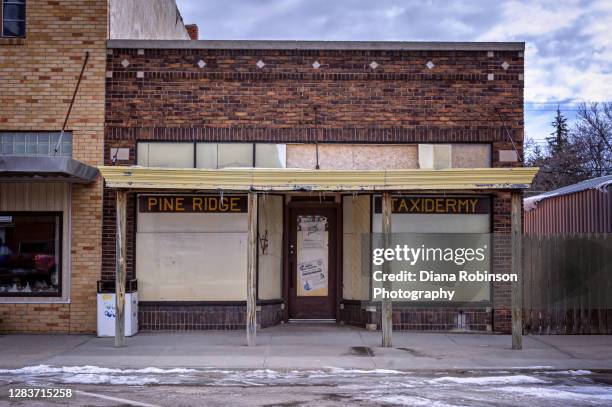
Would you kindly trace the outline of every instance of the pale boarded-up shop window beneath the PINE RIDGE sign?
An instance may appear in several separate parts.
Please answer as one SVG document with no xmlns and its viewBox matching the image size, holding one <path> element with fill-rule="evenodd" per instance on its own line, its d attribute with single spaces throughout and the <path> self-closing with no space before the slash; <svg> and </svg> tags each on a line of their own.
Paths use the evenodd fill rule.
<svg viewBox="0 0 612 407">
<path fill-rule="evenodd" d="M 142 202 L 139 199 L 139 205 Z M 244 301 L 246 246 L 245 212 L 144 212 L 139 208 L 139 297 L 142 301 Z"/>
</svg>

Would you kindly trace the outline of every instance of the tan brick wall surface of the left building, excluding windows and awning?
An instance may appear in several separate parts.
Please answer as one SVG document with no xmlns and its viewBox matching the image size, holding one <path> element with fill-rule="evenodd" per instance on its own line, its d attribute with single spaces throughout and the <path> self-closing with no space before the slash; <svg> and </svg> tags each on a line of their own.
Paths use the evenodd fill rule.
<svg viewBox="0 0 612 407">
<path fill-rule="evenodd" d="M 60 130 L 89 51 L 67 129 L 73 158 L 101 164 L 106 11 L 106 0 L 27 1 L 26 38 L 0 38 L 0 130 Z M 72 187 L 70 303 L 0 304 L 1 331 L 95 331 L 101 205 L 101 180 Z"/>
</svg>

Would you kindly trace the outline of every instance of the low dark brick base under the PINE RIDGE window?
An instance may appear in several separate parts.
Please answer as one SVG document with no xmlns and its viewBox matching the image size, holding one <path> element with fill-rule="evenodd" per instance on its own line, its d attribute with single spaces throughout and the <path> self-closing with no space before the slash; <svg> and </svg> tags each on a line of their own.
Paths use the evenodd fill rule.
<svg viewBox="0 0 612 407">
<path fill-rule="evenodd" d="M 148 304 L 138 305 L 141 331 L 206 331 L 245 329 L 245 304 Z M 262 328 L 279 324 L 282 303 L 258 305 L 257 322 Z"/>
</svg>

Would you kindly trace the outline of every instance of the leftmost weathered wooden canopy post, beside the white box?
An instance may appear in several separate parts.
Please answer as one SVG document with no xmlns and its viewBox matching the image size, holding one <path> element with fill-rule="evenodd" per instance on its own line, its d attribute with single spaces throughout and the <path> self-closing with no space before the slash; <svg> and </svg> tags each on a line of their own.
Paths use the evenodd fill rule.
<svg viewBox="0 0 612 407">
<path fill-rule="evenodd" d="M 125 339 L 125 217 L 127 192 L 117 190 L 117 225 L 115 239 L 115 347 L 124 346 Z"/>
</svg>

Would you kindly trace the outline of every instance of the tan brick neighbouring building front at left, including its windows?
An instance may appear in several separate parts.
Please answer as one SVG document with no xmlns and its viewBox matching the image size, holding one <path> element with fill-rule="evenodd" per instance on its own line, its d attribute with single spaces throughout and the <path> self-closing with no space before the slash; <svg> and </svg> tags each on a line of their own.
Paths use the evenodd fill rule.
<svg viewBox="0 0 612 407">
<path fill-rule="evenodd" d="M 16 3 L 4 9 L 7 16 L 22 19 L 21 25 L 0 18 L 0 240 L 4 251 L 0 256 L 0 331 L 95 332 L 96 282 L 102 259 L 102 179 L 72 183 L 43 173 L 35 173 L 36 179 L 24 171 L 7 175 L 11 170 L 7 163 L 23 159 L 34 168 L 41 163 L 68 163 L 89 169 L 103 163 L 106 42 L 109 3 L 113 1 Z M 173 1 L 166 3 L 172 13 L 177 12 Z M 175 21 L 182 25 L 182 20 L 172 18 L 172 32 L 180 34 Z M 113 24 L 120 27 L 126 21 L 118 15 Z M 163 26 L 157 27 L 156 35 L 180 38 L 168 36 Z M 184 27 L 183 35 L 188 38 Z M 66 132 L 54 152 L 86 53 L 87 64 Z M 36 231 L 24 235 L 45 216 L 60 219 L 61 225 L 55 226 L 59 238 Z M 43 247 L 48 243 L 45 239 L 54 239 L 60 247 Z M 51 273 L 59 268 L 59 277 L 50 280 L 56 281 L 37 280 L 41 266 L 28 263 L 29 256 L 41 252 L 55 256 Z M 24 270 L 30 277 L 20 279 L 17 274 Z M 48 284 L 55 288 L 44 292 Z"/>
</svg>

